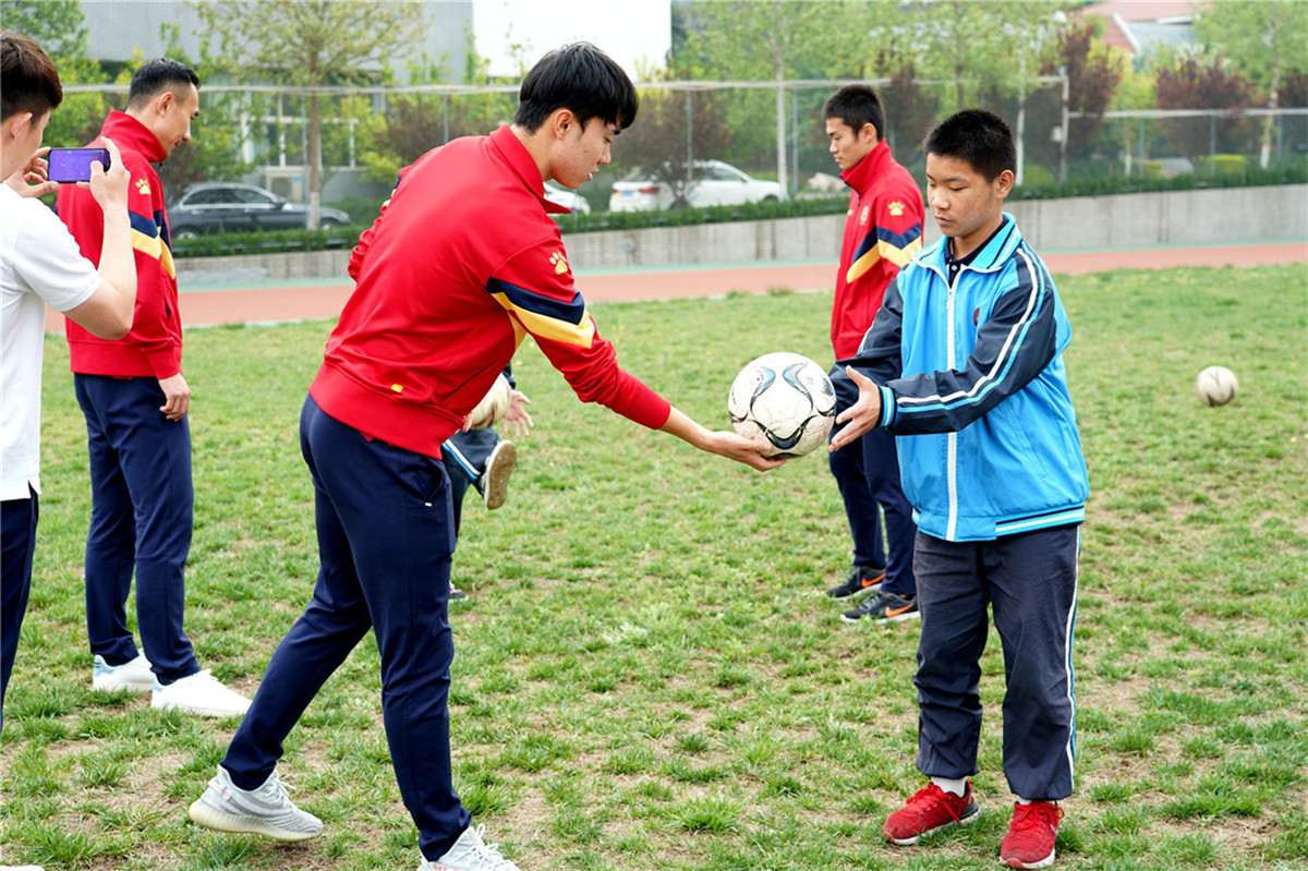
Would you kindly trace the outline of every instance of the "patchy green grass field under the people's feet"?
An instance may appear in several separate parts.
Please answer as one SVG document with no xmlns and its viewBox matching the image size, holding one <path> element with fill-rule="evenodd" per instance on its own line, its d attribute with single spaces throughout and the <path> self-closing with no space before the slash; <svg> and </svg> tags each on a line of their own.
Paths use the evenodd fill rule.
<svg viewBox="0 0 1308 871">
<path fill-rule="evenodd" d="M 1056 867 L 1308 868 L 1308 284 L 1300 267 L 1063 279 L 1091 470 L 1076 624 L 1078 790 Z M 726 425 L 765 350 L 828 361 L 831 294 L 595 306 L 619 358 Z M 327 323 L 187 335 L 196 521 L 187 630 L 250 693 L 317 570 L 300 405 Z M 47 343 L 42 518 L 0 735 L 3 862 L 52 868 L 409 871 L 416 834 L 370 640 L 283 760 L 320 838 L 186 817 L 234 730 L 90 689 L 85 430 Z M 1206 408 L 1194 377 L 1240 377 Z M 998 638 L 985 813 L 908 849 L 917 628 L 845 625 L 848 532 L 825 463 L 766 475 L 581 405 L 532 345 L 536 432 L 508 505 L 468 500 L 451 608 L 455 779 L 523 871 L 991 868 L 1010 817 Z"/>
</svg>

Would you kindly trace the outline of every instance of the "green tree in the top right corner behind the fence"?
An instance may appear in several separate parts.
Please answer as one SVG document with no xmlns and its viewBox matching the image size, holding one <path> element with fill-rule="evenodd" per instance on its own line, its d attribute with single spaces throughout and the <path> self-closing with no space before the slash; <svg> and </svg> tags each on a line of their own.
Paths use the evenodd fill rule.
<svg viewBox="0 0 1308 871">
<path fill-rule="evenodd" d="M 1194 33 L 1210 50 L 1231 59 L 1265 95 L 1269 109 L 1282 105 L 1288 72 L 1308 68 L 1308 4 L 1303 0 L 1224 0 L 1203 9 Z M 1271 154 L 1275 119 L 1262 124 L 1260 163 Z"/>
</svg>

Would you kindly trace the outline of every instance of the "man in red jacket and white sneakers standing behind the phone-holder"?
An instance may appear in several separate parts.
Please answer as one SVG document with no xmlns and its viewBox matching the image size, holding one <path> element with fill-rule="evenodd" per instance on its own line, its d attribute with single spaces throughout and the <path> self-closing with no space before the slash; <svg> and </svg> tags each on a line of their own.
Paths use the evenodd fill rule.
<svg viewBox="0 0 1308 871">
<path fill-rule="evenodd" d="M 132 179 L 127 209 L 136 314 L 132 331 L 116 341 L 72 320 L 67 333 L 90 450 L 85 572 L 92 683 L 97 689 L 152 691 L 152 708 L 233 717 L 243 714 L 250 700 L 200 670 L 182 626 L 194 506 L 186 420 L 191 388 L 182 375 L 182 319 L 164 186 L 150 166 L 191 139 L 191 119 L 200 111 L 199 84 L 182 63 L 150 60 L 132 76 L 127 111 L 110 112 L 105 120 L 101 136 L 118 144 Z M 82 256 L 98 264 L 105 220 L 90 191 L 63 186 L 58 208 Z M 127 628 L 133 570 L 144 654 Z"/>
</svg>

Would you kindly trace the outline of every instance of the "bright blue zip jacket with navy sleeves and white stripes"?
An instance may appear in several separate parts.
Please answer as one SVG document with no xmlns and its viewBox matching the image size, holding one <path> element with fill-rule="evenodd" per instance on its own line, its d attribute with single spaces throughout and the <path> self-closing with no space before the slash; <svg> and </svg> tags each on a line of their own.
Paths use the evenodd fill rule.
<svg viewBox="0 0 1308 871">
<path fill-rule="evenodd" d="M 1090 487 L 1067 394 L 1067 315 L 1011 214 L 952 284 L 948 239 L 886 290 L 855 357 L 882 390 L 918 528 L 950 541 L 1079 523 Z"/>
</svg>

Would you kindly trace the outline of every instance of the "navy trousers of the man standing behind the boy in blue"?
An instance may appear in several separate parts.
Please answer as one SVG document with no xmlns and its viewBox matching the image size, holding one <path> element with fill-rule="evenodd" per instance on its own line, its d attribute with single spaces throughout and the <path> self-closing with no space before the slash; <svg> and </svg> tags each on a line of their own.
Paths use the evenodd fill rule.
<svg viewBox="0 0 1308 871">
<path fill-rule="evenodd" d="M 858 387 L 840 364 L 832 366 L 828 375 L 832 387 L 836 388 L 838 415 L 858 401 Z M 832 435 L 840 429 L 833 428 Z M 875 428 L 828 456 L 831 473 L 845 502 L 849 531 L 854 536 L 854 562 L 886 566 L 882 589 L 912 599 L 917 594 L 917 582 L 913 578 L 913 539 L 917 536 L 917 524 L 913 522 L 913 507 L 900 487 L 895 437 L 884 429 Z"/>
</svg>

